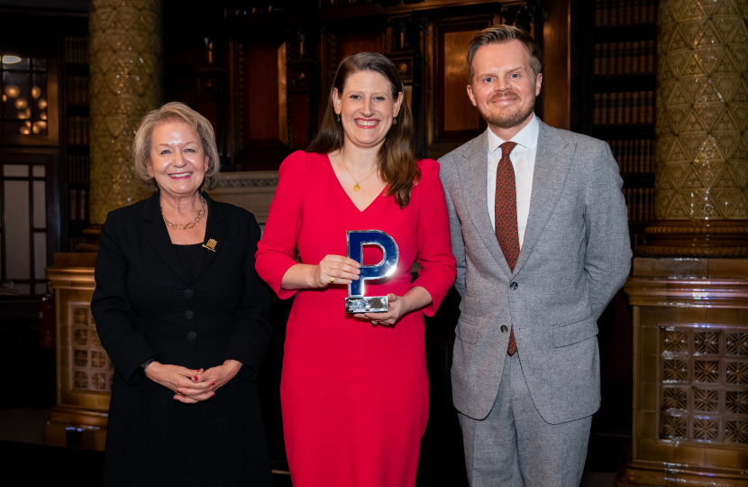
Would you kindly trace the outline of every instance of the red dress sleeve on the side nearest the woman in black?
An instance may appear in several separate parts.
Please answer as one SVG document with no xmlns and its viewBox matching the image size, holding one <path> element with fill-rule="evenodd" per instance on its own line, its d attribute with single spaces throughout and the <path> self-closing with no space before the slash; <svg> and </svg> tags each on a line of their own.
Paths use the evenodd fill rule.
<svg viewBox="0 0 748 487">
<path fill-rule="evenodd" d="M 305 179 L 306 152 L 296 151 L 280 165 L 278 188 L 255 255 L 258 274 L 280 299 L 296 294 L 296 290 L 281 289 L 280 282 L 297 263 L 294 256 L 303 216 Z"/>
</svg>

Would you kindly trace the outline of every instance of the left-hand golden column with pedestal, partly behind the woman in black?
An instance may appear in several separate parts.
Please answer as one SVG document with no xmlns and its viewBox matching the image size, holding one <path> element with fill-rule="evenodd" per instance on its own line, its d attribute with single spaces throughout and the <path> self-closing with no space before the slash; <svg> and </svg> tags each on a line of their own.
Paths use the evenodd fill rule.
<svg viewBox="0 0 748 487">
<path fill-rule="evenodd" d="M 52 446 L 103 450 L 114 365 L 96 334 L 91 297 L 106 214 L 145 198 L 130 145 L 163 93 L 160 0 L 91 0 L 91 226 L 78 252 L 58 253 L 47 278 L 57 315 L 57 405 L 45 427 Z"/>
</svg>

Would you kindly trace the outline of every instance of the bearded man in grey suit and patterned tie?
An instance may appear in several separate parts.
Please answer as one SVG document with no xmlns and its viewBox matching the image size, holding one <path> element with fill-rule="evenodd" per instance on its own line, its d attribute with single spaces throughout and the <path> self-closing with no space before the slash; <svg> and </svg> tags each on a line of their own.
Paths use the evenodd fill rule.
<svg viewBox="0 0 748 487">
<path fill-rule="evenodd" d="M 597 318 L 631 263 L 623 182 L 607 143 L 534 115 L 543 74 L 527 32 L 479 32 L 468 64 L 488 130 L 440 162 L 470 484 L 579 485 L 600 406 Z"/>
</svg>

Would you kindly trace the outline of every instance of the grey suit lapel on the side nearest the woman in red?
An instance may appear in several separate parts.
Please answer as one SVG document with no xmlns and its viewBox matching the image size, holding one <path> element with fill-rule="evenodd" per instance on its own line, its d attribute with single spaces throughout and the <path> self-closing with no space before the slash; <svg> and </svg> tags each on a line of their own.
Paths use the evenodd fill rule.
<svg viewBox="0 0 748 487">
<path fill-rule="evenodd" d="M 506 263 L 506 257 L 498 244 L 496 232 L 488 216 L 488 133 L 484 132 L 470 141 L 462 152 L 462 157 L 466 159 L 466 164 L 460 171 L 460 179 L 470 219 L 488 252 L 493 255 L 506 276 L 510 277 L 512 272 L 509 271 L 509 264 Z"/>
</svg>

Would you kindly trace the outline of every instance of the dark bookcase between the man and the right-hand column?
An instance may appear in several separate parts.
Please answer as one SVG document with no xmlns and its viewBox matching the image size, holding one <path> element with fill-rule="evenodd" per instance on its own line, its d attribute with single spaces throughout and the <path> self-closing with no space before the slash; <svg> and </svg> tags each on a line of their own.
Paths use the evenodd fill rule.
<svg viewBox="0 0 748 487">
<path fill-rule="evenodd" d="M 624 179 L 632 247 L 654 219 L 656 5 L 578 0 L 572 130 L 608 142 Z"/>
</svg>

